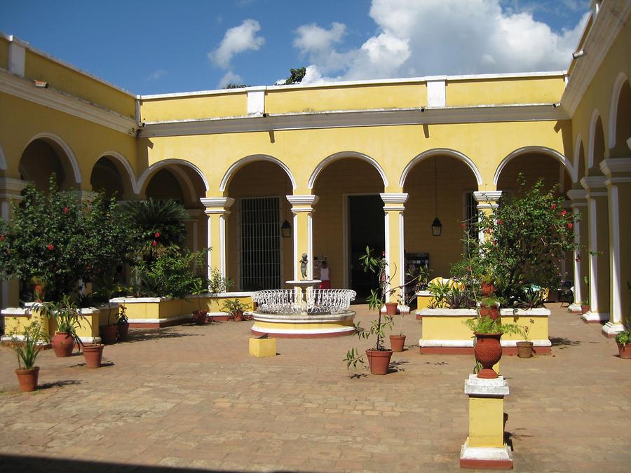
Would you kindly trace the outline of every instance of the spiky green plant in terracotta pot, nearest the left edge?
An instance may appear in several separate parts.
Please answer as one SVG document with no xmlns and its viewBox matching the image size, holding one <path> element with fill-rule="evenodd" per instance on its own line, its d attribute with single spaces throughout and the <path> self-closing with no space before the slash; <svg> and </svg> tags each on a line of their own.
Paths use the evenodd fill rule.
<svg viewBox="0 0 631 473">
<path fill-rule="evenodd" d="M 18 376 L 20 391 L 29 392 L 37 389 L 37 378 L 39 377 L 39 366 L 35 366 L 39 352 L 43 345 L 41 341 L 48 341 L 41 322 L 34 322 L 22 332 L 22 340 L 15 334 L 11 334 L 11 348 L 18 356 L 18 369 L 15 375 Z"/>
</svg>

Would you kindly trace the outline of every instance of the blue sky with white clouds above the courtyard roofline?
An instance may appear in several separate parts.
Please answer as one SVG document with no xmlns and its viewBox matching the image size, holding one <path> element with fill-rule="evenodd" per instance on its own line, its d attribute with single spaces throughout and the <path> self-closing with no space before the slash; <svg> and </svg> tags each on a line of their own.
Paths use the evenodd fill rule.
<svg viewBox="0 0 631 473">
<path fill-rule="evenodd" d="M 1 0 L 0 30 L 137 94 L 562 70 L 589 0 Z"/>
</svg>

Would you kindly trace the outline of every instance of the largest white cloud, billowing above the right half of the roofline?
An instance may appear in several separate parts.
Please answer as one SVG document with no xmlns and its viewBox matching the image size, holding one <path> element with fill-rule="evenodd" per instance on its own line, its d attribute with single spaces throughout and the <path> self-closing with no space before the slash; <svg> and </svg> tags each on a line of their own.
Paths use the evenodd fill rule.
<svg viewBox="0 0 631 473">
<path fill-rule="evenodd" d="M 529 11 L 515 12 L 499 0 L 373 0 L 378 31 L 360 48 L 337 50 L 339 23 L 299 27 L 294 46 L 311 62 L 303 80 L 310 83 L 566 69 L 587 15 L 553 32 Z"/>
</svg>

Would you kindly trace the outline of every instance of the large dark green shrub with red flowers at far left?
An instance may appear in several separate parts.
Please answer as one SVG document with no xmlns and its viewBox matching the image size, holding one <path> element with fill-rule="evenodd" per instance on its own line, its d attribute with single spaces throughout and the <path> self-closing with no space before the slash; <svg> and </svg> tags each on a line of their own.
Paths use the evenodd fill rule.
<svg viewBox="0 0 631 473">
<path fill-rule="evenodd" d="M 22 196 L 11 223 L 0 219 L 0 271 L 22 280 L 27 298 L 37 282 L 47 300 L 60 301 L 79 280 L 114 270 L 130 249 L 128 231 L 112 218 L 116 200 L 102 193 L 81 202 L 76 191 L 60 191 L 53 175 L 48 192 L 31 183 Z"/>
</svg>

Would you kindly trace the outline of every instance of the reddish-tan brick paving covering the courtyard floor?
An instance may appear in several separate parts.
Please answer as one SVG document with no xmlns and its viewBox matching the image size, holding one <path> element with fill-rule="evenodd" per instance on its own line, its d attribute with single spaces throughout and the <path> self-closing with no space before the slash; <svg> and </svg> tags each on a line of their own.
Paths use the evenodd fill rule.
<svg viewBox="0 0 631 473">
<path fill-rule="evenodd" d="M 501 362 L 515 470 L 629 471 L 631 360 L 550 308 L 552 355 Z M 387 376 L 346 370 L 348 348 L 368 346 L 356 337 L 279 339 L 280 355 L 255 359 L 250 325 L 131 330 L 96 370 L 47 350 L 34 393 L 0 348 L 0 471 L 459 470 L 473 359 L 421 355 L 413 316 Z"/>
</svg>

